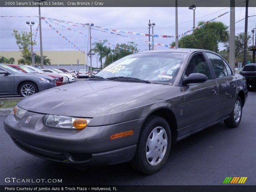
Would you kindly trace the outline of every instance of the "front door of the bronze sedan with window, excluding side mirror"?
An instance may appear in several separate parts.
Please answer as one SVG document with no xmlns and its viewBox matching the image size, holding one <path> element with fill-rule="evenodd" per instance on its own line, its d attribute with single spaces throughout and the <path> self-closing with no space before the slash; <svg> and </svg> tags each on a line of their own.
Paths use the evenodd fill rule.
<svg viewBox="0 0 256 192">
<path fill-rule="evenodd" d="M 202 52 L 190 57 L 184 76 L 202 73 L 206 82 L 183 86 L 185 106 L 183 110 L 183 135 L 212 123 L 216 119 L 218 87 L 213 71 Z"/>
</svg>

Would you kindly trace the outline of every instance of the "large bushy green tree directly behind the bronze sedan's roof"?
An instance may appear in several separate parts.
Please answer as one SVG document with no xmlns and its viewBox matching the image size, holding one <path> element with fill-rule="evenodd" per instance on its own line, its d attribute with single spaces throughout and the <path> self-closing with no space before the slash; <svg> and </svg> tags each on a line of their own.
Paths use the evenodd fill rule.
<svg viewBox="0 0 256 192">
<path fill-rule="evenodd" d="M 204 21 L 198 22 L 198 26 Z M 193 31 L 192 34 L 180 38 L 180 48 L 207 49 L 219 52 L 218 44 L 228 41 L 228 27 L 222 22 L 210 22 Z M 175 45 L 174 42 L 170 45 Z"/>
</svg>

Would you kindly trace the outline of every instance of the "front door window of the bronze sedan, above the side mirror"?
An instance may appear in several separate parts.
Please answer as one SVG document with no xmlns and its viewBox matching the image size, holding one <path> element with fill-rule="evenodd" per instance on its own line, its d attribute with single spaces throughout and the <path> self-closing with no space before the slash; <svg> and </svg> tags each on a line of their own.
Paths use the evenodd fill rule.
<svg viewBox="0 0 256 192">
<path fill-rule="evenodd" d="M 191 73 L 202 73 L 207 79 L 212 79 L 211 71 L 202 54 L 196 54 L 190 59 L 185 75 L 189 76 Z"/>
</svg>

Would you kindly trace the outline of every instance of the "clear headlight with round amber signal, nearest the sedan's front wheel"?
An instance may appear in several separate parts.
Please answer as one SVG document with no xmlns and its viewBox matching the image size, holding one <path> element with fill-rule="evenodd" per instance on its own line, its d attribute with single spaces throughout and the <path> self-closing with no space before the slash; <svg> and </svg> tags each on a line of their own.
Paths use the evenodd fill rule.
<svg viewBox="0 0 256 192">
<path fill-rule="evenodd" d="M 46 115 L 44 124 L 49 127 L 65 128 L 65 129 L 84 129 L 91 119 L 77 118 L 59 115 Z"/>
</svg>

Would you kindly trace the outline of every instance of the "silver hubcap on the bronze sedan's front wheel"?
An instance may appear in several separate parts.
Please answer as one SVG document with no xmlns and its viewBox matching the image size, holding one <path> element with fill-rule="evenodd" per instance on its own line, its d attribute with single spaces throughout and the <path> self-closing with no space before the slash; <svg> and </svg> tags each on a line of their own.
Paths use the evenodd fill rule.
<svg viewBox="0 0 256 192">
<path fill-rule="evenodd" d="M 152 166 L 159 164 L 166 153 L 167 133 L 163 127 L 154 128 L 148 136 L 146 145 L 146 159 Z"/>
</svg>

